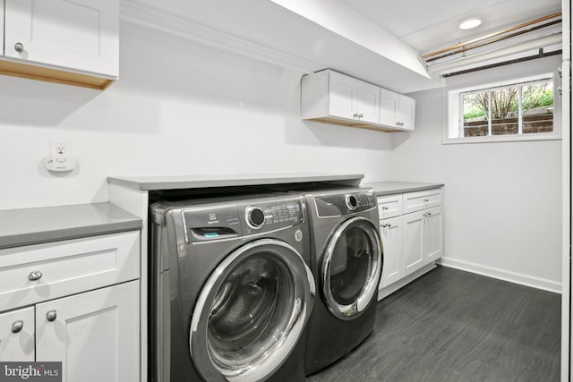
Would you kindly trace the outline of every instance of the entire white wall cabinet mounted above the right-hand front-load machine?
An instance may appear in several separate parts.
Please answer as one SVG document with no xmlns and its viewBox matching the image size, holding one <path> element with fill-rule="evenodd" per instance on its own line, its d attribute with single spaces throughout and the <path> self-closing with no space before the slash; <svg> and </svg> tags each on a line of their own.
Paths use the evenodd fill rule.
<svg viewBox="0 0 573 382">
<path fill-rule="evenodd" d="M 407 98 L 402 105 L 400 94 L 371 83 L 327 69 L 305 75 L 301 90 L 303 119 L 384 132 L 414 130 L 414 99 Z M 394 103 L 389 95 L 396 98 Z M 391 109 L 391 113 L 384 108 Z M 387 118 L 389 114 L 391 118 L 382 119 L 382 115 Z"/>
</svg>

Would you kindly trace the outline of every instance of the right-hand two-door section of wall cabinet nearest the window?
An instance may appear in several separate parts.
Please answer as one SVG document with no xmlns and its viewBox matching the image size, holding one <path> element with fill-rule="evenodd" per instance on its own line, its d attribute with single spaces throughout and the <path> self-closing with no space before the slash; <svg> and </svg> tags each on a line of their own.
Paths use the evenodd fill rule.
<svg viewBox="0 0 573 382">
<path fill-rule="evenodd" d="M 415 99 L 388 89 L 381 89 L 380 123 L 398 130 L 413 131 Z"/>
</svg>

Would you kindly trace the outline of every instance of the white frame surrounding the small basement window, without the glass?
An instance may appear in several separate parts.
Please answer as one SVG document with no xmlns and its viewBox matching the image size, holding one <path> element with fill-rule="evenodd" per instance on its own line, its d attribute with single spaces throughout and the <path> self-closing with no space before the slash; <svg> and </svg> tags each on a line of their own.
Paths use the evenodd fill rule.
<svg viewBox="0 0 573 382">
<path fill-rule="evenodd" d="M 463 136 L 463 111 L 460 105 L 461 93 L 475 90 L 487 90 L 500 88 L 504 86 L 519 84 L 522 82 L 539 81 L 543 79 L 552 79 L 553 81 L 553 131 L 537 132 L 530 134 L 508 134 L 508 135 L 488 135 L 479 137 Z M 510 142 L 510 141 L 531 141 L 531 140 L 560 140 L 561 139 L 561 98 L 558 92 L 560 78 L 553 72 L 544 72 L 528 77 L 521 77 L 507 81 L 498 81 L 492 83 L 479 84 L 463 89 L 452 89 L 448 91 L 448 123 L 442 129 L 442 143 L 486 143 L 486 142 Z"/>
</svg>

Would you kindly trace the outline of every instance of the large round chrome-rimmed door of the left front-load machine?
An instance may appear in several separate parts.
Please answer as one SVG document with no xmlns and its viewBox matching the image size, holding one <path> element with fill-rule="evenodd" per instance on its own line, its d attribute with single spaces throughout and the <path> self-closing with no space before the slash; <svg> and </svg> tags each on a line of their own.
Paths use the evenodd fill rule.
<svg viewBox="0 0 573 382">
<path fill-rule="evenodd" d="M 258 381 L 292 352 L 312 311 L 314 280 L 295 248 L 273 239 L 232 252 L 193 310 L 189 348 L 209 381 Z"/>
</svg>

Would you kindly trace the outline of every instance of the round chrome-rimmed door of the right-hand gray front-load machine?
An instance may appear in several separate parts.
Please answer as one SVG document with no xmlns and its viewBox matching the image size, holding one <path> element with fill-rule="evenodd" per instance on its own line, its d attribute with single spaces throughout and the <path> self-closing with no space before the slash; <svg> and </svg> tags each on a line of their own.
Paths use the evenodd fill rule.
<svg viewBox="0 0 573 382">
<path fill-rule="evenodd" d="M 346 320 L 358 317 L 378 290 L 381 264 L 376 226 L 362 216 L 340 225 L 322 258 L 322 293 L 330 313 Z"/>
</svg>

